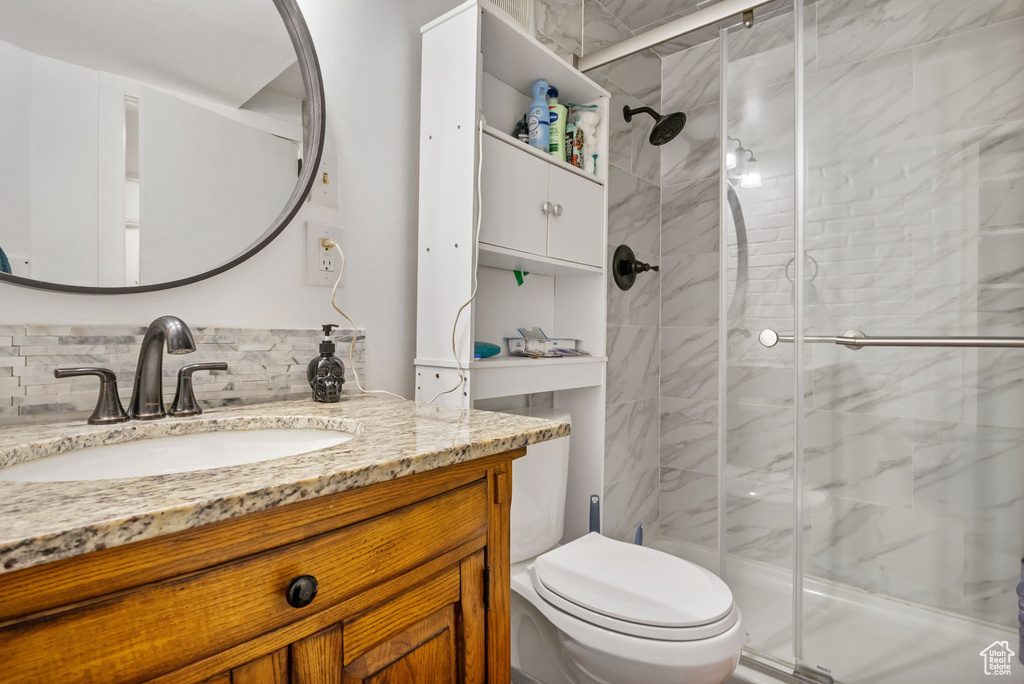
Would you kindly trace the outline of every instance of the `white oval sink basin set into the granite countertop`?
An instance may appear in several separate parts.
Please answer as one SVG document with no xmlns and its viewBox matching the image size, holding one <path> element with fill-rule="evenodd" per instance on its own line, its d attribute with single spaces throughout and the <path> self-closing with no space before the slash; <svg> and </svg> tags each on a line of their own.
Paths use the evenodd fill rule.
<svg viewBox="0 0 1024 684">
<path fill-rule="evenodd" d="M 19 463 L 0 470 L 0 480 L 67 482 L 184 473 L 308 454 L 354 436 L 338 430 L 268 428 L 139 439 Z"/>
</svg>

